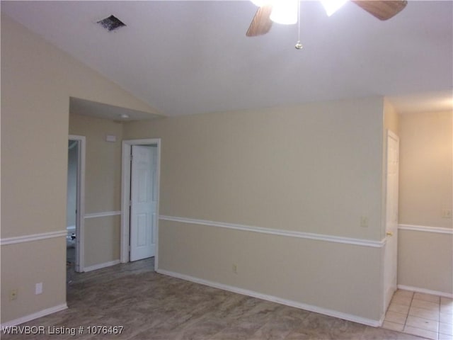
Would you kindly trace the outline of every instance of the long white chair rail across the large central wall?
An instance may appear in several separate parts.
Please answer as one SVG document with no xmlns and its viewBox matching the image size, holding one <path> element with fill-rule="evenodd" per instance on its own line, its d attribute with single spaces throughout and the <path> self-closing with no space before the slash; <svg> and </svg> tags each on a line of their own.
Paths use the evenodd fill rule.
<svg viewBox="0 0 453 340">
<path fill-rule="evenodd" d="M 316 239 L 317 241 L 335 242 L 335 243 L 343 243 L 343 244 L 354 244 L 357 246 L 372 246 L 374 248 L 381 248 L 385 244 L 385 239 L 383 239 L 382 241 L 372 241 L 369 239 L 352 239 L 350 237 L 314 234 L 311 232 L 297 232 L 294 230 L 252 227 L 250 225 L 235 225 L 235 224 L 224 223 L 224 222 L 195 220 L 193 218 L 185 218 L 185 217 L 173 217 L 173 216 L 160 215 L 159 220 L 188 223 L 191 225 L 208 225 L 211 227 L 236 229 L 236 230 L 243 230 L 246 232 L 260 232 L 262 234 L 273 234 L 273 235 L 286 236 L 286 237 L 298 237 L 301 239 Z"/>
</svg>

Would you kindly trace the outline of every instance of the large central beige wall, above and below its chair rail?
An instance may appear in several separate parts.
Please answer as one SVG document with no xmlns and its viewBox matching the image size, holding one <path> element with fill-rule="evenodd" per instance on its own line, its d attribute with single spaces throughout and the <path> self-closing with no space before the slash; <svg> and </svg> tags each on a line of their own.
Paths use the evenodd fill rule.
<svg viewBox="0 0 453 340">
<path fill-rule="evenodd" d="M 160 215 L 380 242 L 383 106 L 365 98 L 191 115 L 127 123 L 124 137 L 161 138 Z M 160 223 L 160 270 L 382 317 L 382 248 Z"/>
</svg>

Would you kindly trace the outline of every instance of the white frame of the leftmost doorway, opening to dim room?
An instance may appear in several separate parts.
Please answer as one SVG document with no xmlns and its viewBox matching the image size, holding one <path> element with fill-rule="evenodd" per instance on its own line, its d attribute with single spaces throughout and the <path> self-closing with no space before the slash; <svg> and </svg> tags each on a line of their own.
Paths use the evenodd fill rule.
<svg viewBox="0 0 453 340">
<path fill-rule="evenodd" d="M 79 143 L 77 162 L 77 198 L 76 198 L 76 263 L 74 270 L 83 272 L 85 268 L 85 136 L 69 135 L 68 140 L 76 140 Z"/>
</svg>

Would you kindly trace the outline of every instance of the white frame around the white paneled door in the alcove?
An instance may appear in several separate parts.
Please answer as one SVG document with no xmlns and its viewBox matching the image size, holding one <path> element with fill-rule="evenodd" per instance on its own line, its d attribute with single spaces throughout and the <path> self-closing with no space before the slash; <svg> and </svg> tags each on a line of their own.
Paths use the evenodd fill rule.
<svg viewBox="0 0 453 340">
<path fill-rule="evenodd" d="M 159 268 L 159 192 L 161 178 L 161 139 L 123 140 L 122 141 L 122 171 L 121 171 L 121 239 L 120 261 L 130 261 L 130 153 L 132 145 L 157 145 L 157 208 L 156 208 L 156 255 L 154 269 Z"/>
</svg>

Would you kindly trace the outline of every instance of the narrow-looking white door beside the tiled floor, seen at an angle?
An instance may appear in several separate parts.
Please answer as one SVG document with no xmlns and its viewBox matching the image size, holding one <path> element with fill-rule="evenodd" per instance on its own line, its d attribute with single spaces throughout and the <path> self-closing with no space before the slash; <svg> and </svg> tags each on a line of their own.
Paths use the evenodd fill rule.
<svg viewBox="0 0 453 340">
<path fill-rule="evenodd" d="M 386 244 L 384 263 L 385 309 L 396 290 L 398 273 L 398 172 L 399 138 L 387 133 Z"/>
</svg>

